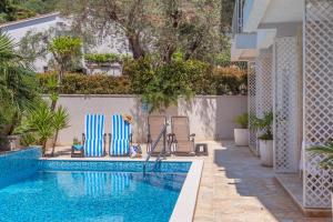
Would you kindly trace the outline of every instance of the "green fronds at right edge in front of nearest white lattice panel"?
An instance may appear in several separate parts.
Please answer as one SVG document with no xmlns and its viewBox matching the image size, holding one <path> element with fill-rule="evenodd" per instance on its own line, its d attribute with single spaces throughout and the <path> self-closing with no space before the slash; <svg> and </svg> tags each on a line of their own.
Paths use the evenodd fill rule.
<svg viewBox="0 0 333 222">
<path fill-rule="evenodd" d="M 319 164 L 321 168 L 325 170 L 333 170 L 333 142 L 327 142 L 324 145 L 314 145 L 312 148 L 309 148 L 307 151 L 310 151 L 313 154 L 324 154 L 325 159 L 322 160 Z M 331 183 L 331 202 L 332 202 L 332 209 L 333 209 L 333 184 Z"/>
</svg>

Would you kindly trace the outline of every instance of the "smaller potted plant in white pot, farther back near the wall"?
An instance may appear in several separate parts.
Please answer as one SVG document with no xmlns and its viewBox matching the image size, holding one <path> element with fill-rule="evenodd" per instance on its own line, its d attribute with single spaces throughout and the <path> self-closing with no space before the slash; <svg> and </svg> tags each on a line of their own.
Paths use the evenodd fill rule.
<svg viewBox="0 0 333 222">
<path fill-rule="evenodd" d="M 233 130 L 235 145 L 249 145 L 249 114 L 238 115 L 234 122 L 240 127 Z"/>
</svg>

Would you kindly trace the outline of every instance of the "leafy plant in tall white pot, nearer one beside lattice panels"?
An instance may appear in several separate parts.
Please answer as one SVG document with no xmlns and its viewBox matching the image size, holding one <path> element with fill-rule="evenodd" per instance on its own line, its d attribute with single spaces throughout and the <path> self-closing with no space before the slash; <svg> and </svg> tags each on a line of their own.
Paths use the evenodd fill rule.
<svg viewBox="0 0 333 222">
<path fill-rule="evenodd" d="M 265 112 L 263 118 L 253 118 L 254 128 L 262 132 L 259 139 L 261 163 L 265 167 L 273 165 L 273 112 Z"/>
</svg>

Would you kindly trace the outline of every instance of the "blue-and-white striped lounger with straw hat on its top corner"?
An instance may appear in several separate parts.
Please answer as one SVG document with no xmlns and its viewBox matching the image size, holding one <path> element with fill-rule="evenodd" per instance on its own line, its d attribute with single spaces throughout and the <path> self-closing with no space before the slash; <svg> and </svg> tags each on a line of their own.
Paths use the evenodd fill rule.
<svg viewBox="0 0 333 222">
<path fill-rule="evenodd" d="M 121 114 L 112 115 L 112 134 L 110 133 L 110 152 L 114 155 L 129 155 L 132 142 L 131 124 L 123 120 Z"/>
</svg>

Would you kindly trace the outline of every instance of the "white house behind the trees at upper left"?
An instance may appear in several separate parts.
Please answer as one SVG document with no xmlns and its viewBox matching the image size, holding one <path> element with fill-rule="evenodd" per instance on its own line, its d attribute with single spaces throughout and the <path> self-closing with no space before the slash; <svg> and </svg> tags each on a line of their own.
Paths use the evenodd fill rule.
<svg viewBox="0 0 333 222">
<path fill-rule="evenodd" d="M 0 24 L 0 31 L 8 33 L 16 42 L 20 42 L 27 33 L 47 32 L 51 29 L 68 30 L 70 29 L 70 20 L 61 17 L 59 12 L 42 14 L 20 21 L 8 22 Z M 124 37 L 120 34 L 95 36 L 97 43 L 90 47 L 87 52 L 89 53 L 119 53 L 129 54 L 130 50 Z M 51 54 L 46 58 L 38 58 L 33 67 L 37 72 L 44 72 L 48 70 L 49 60 Z M 83 68 L 88 73 L 108 73 L 110 75 L 121 75 L 122 68 L 120 63 L 111 63 L 109 65 L 90 65 L 87 67 L 83 62 Z"/>
</svg>

